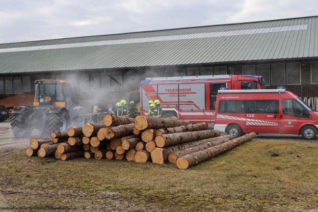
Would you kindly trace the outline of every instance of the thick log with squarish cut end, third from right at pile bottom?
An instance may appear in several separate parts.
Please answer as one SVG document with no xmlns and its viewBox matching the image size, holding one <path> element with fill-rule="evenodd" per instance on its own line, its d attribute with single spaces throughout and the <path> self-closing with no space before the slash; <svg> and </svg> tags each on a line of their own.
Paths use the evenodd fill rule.
<svg viewBox="0 0 318 212">
<path fill-rule="evenodd" d="M 190 148 L 190 147 L 194 147 L 194 146 L 197 146 L 197 145 L 205 144 L 205 143 L 208 143 L 208 142 L 212 142 L 212 141 L 215 141 L 215 140 L 224 139 L 224 138 L 233 139 L 234 136 L 233 135 L 223 135 L 223 136 L 220 136 L 220 137 L 212 137 L 212 138 L 198 140 L 198 141 L 191 141 L 191 142 L 181 143 L 181 144 L 178 144 L 178 145 L 169 146 L 169 147 L 165 147 L 165 148 L 156 147 L 151 152 L 151 159 L 152 159 L 153 163 L 163 164 L 163 163 L 168 161 L 168 159 L 169 159 L 168 156 L 169 156 L 170 153 L 177 152 L 177 151 L 180 151 L 180 150 L 184 150 L 184 149 L 187 149 L 187 148 Z"/>
</svg>

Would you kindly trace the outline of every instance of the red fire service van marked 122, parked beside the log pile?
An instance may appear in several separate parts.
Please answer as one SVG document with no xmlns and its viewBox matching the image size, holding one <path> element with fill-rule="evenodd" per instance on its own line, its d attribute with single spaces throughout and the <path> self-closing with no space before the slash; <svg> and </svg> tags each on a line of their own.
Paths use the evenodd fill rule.
<svg viewBox="0 0 318 212">
<path fill-rule="evenodd" d="M 285 89 L 218 90 L 215 130 L 233 134 L 245 132 L 289 133 L 316 139 L 318 112 Z"/>
</svg>

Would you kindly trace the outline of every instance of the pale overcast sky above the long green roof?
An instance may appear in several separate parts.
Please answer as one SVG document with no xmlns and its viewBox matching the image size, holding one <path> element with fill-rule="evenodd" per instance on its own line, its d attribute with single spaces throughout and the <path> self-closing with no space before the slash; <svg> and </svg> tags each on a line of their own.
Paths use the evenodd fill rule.
<svg viewBox="0 0 318 212">
<path fill-rule="evenodd" d="M 317 0 L 0 0 L 0 43 L 318 15 Z"/>
</svg>

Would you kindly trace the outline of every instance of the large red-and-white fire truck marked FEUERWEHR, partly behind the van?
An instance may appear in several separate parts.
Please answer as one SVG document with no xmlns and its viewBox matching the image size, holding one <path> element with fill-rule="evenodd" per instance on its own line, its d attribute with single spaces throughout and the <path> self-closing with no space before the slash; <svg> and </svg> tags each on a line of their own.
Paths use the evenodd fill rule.
<svg viewBox="0 0 318 212">
<path fill-rule="evenodd" d="M 262 77 L 241 75 L 147 78 L 139 83 L 141 115 L 148 115 L 149 100 L 160 101 L 161 117 L 176 116 L 193 123 L 214 123 L 217 90 L 264 89 Z"/>
</svg>

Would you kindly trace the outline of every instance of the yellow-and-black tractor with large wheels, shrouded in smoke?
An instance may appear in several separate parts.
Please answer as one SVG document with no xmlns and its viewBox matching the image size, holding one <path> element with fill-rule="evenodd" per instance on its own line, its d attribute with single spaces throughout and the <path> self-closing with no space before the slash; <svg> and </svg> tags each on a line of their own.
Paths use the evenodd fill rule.
<svg viewBox="0 0 318 212">
<path fill-rule="evenodd" d="M 75 92 L 64 80 L 35 80 L 33 106 L 14 106 L 11 129 L 17 138 L 30 136 L 37 129 L 42 136 L 66 131 L 86 123 L 86 110 L 77 104 Z"/>
</svg>

